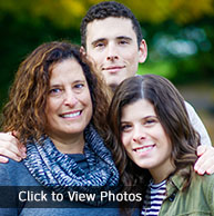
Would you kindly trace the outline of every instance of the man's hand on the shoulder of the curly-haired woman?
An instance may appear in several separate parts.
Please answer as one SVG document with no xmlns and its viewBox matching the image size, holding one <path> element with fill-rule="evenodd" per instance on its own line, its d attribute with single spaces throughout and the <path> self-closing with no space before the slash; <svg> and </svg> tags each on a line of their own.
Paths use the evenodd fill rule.
<svg viewBox="0 0 214 216">
<path fill-rule="evenodd" d="M 8 157 L 20 161 L 26 158 L 26 147 L 19 143 L 16 132 L 0 132 L 0 163 L 8 163 Z"/>
</svg>

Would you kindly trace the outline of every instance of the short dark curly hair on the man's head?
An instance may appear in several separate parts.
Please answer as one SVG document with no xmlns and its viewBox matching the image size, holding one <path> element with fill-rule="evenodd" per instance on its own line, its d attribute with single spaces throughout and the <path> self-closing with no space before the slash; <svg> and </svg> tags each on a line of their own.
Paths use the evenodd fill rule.
<svg viewBox="0 0 214 216">
<path fill-rule="evenodd" d="M 102 20 L 109 17 L 131 19 L 133 30 L 136 33 L 137 45 L 140 47 L 143 36 L 141 31 L 141 26 L 135 16 L 133 14 L 133 12 L 122 3 L 115 1 L 103 1 L 92 6 L 88 10 L 84 18 L 82 19 L 80 33 L 81 33 L 81 45 L 84 48 L 86 48 L 86 26 L 95 19 Z"/>
</svg>

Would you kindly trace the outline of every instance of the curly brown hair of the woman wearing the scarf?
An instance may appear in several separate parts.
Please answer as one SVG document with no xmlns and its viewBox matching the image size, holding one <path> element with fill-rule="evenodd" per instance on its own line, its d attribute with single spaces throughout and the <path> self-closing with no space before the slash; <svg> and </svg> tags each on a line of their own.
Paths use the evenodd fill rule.
<svg viewBox="0 0 214 216">
<path fill-rule="evenodd" d="M 3 131 L 18 131 L 18 138 L 26 143 L 30 137 L 39 139 L 45 135 L 47 117 L 44 108 L 49 82 L 54 63 L 75 59 L 85 76 L 92 105 L 91 122 L 105 138 L 108 126 L 104 115 L 109 108 L 109 97 L 103 81 L 82 60 L 80 48 L 67 41 L 52 41 L 39 46 L 21 62 L 11 86 L 9 101 L 3 107 L 1 127 Z"/>
</svg>

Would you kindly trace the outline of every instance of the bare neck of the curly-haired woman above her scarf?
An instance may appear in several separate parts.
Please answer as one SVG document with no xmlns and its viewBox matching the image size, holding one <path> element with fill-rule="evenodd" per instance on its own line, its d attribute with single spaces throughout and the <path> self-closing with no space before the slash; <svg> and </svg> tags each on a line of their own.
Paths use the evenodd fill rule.
<svg viewBox="0 0 214 216">
<path fill-rule="evenodd" d="M 75 135 L 72 137 L 57 137 L 50 136 L 54 146 L 60 153 L 63 154 L 83 154 L 84 137 L 83 134 Z"/>
</svg>

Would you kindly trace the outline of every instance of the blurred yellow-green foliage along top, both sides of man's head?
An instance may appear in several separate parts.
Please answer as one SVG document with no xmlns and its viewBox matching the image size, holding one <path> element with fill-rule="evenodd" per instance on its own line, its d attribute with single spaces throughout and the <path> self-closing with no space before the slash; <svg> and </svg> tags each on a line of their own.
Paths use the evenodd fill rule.
<svg viewBox="0 0 214 216">
<path fill-rule="evenodd" d="M 0 9 L 12 13 L 18 20 L 32 19 L 40 23 L 47 18 L 57 26 L 79 27 L 90 6 L 101 0 L 1 0 Z M 162 23 L 174 20 L 190 23 L 204 16 L 214 14 L 214 0 L 119 0 L 132 9 L 140 21 Z"/>
</svg>

